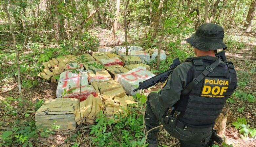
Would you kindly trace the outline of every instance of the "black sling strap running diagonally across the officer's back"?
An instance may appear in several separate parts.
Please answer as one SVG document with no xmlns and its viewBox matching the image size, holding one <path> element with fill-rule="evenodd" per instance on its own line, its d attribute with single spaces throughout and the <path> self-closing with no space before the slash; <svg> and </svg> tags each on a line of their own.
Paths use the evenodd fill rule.
<svg viewBox="0 0 256 147">
<path fill-rule="evenodd" d="M 199 74 L 196 78 L 190 82 L 184 90 L 182 90 L 181 95 L 187 95 L 201 80 L 203 80 L 207 74 L 213 71 L 219 64 L 221 63 L 221 58 L 218 57 L 216 61 L 214 61 L 210 66 L 207 66 L 206 69 Z"/>
</svg>

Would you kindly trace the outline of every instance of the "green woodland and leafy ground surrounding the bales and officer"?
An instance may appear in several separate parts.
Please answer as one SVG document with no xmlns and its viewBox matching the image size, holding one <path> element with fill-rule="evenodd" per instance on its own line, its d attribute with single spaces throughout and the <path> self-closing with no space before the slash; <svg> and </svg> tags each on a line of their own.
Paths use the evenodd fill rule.
<svg viewBox="0 0 256 147">
<path fill-rule="evenodd" d="M 255 146 L 256 140 L 256 0 L 2 0 L 0 2 L 0 146 L 146 146 L 145 95 L 126 118 L 98 123 L 74 133 L 39 132 L 35 111 L 56 97 L 56 83 L 36 75 L 41 63 L 58 55 L 81 55 L 99 45 L 138 45 L 163 49 L 167 59 L 152 61 L 155 74 L 172 60 L 193 57 L 184 39 L 201 24 L 225 30 L 227 60 L 238 73 L 238 89 L 227 100 L 224 143 Z M 56 77 L 57 78 L 57 77 Z M 163 128 L 160 146 L 179 146 Z M 218 146 L 218 145 L 215 145 Z"/>
</svg>

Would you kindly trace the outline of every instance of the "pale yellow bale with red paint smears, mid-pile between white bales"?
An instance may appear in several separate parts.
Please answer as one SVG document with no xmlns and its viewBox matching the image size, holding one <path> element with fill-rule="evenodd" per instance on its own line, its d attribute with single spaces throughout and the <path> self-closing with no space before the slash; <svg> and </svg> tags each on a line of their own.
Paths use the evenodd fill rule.
<svg viewBox="0 0 256 147">
<path fill-rule="evenodd" d="M 96 71 L 96 74 L 93 72 L 88 72 L 88 81 L 92 83 L 93 81 L 106 81 L 111 79 L 111 75 L 107 70 Z"/>
</svg>

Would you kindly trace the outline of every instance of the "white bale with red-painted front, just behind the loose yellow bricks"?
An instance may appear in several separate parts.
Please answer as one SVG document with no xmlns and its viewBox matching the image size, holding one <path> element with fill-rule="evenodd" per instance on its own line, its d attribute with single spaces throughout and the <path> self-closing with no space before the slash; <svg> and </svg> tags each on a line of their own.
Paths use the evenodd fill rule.
<svg viewBox="0 0 256 147">
<path fill-rule="evenodd" d="M 72 90 L 72 93 L 68 93 L 68 91 Z M 87 86 L 81 86 L 81 95 L 80 95 L 80 87 L 77 87 L 75 90 L 68 89 L 67 93 L 63 96 L 63 98 L 76 98 L 79 99 L 80 101 L 86 100 L 86 98 L 90 95 L 93 94 L 93 96 L 98 96 L 96 93 L 96 90 L 93 88 L 92 85 L 87 85 Z"/>
</svg>

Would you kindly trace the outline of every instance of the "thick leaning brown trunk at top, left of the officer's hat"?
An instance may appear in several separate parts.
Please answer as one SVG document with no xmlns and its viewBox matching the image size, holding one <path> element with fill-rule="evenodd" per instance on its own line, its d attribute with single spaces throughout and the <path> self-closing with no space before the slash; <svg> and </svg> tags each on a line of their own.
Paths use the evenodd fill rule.
<svg viewBox="0 0 256 147">
<path fill-rule="evenodd" d="M 156 37 L 156 33 L 157 33 L 157 29 L 158 29 L 158 25 L 160 22 L 160 16 L 162 14 L 163 11 L 163 4 L 166 0 L 160 0 L 159 6 L 158 6 L 158 10 L 156 12 L 156 15 L 154 17 L 154 20 L 151 24 L 151 27 L 153 28 L 153 31 L 150 33 L 151 38 L 155 38 Z"/>
</svg>

